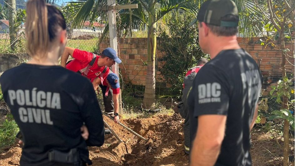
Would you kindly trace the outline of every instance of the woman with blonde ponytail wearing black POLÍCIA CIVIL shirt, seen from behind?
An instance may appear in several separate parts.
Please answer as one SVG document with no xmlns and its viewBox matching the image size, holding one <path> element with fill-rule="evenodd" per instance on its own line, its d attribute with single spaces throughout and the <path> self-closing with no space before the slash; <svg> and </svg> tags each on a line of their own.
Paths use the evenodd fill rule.
<svg viewBox="0 0 295 166">
<path fill-rule="evenodd" d="M 87 146 L 103 145 L 103 117 L 92 83 L 58 66 L 67 43 L 63 14 L 44 0 L 29 0 L 25 33 L 32 60 L 0 77 L 22 133 L 20 165 L 91 165 Z"/>
</svg>

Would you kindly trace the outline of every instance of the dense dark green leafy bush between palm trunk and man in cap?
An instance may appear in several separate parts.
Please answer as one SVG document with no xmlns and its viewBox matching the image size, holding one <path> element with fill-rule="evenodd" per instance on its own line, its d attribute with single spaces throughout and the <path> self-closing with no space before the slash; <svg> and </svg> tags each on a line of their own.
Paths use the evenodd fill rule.
<svg viewBox="0 0 295 166">
<path fill-rule="evenodd" d="M 171 85 L 172 93 L 180 94 L 187 70 L 206 56 L 198 44 L 197 25 L 189 26 L 193 18 L 191 13 L 174 11 L 158 24 L 158 49 L 165 54 L 158 58 L 160 64 L 156 67 Z"/>
</svg>

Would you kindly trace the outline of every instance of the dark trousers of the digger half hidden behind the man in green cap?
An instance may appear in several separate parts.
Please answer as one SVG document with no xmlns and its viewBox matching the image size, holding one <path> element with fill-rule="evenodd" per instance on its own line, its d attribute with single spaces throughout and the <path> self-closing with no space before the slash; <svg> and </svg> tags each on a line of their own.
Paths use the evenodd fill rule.
<svg viewBox="0 0 295 166">
<path fill-rule="evenodd" d="M 189 154 L 190 134 L 189 134 L 189 113 L 188 108 L 184 106 L 183 102 L 178 104 L 178 111 L 182 118 L 184 118 L 183 132 L 184 132 L 184 151 Z"/>
</svg>

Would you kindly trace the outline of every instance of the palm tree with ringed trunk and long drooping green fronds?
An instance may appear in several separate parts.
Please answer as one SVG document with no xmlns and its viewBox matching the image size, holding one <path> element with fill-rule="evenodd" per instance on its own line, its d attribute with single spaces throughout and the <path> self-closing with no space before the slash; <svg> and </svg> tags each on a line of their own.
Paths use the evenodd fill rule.
<svg viewBox="0 0 295 166">
<path fill-rule="evenodd" d="M 205 0 L 118 0 L 119 5 L 138 4 L 138 9 L 119 10 L 120 22 L 117 22 L 119 35 L 128 35 L 132 33 L 133 28 L 146 25 L 148 27 L 148 66 L 146 75 L 146 85 L 143 98 L 144 108 L 153 108 L 155 106 L 155 57 L 157 49 L 156 27 L 157 21 L 173 9 L 182 9 L 184 11 L 197 15 L 200 5 Z M 256 0 L 260 1 L 260 0 Z M 263 15 L 261 11 L 256 11 L 252 0 L 234 0 L 240 13 L 240 30 L 249 36 L 261 28 L 261 25 L 249 23 L 249 13 L 251 18 L 257 20 Z M 103 11 L 101 6 L 107 5 L 107 0 L 78 0 L 74 5 L 75 11 L 68 13 L 73 18 L 73 26 L 79 27 L 84 21 L 90 19 L 94 21 Z M 145 14 L 145 12 L 147 14 Z M 247 29 L 247 30 L 245 30 Z M 108 34 L 108 25 L 103 36 Z M 102 41 L 102 39 L 101 39 Z"/>
</svg>

